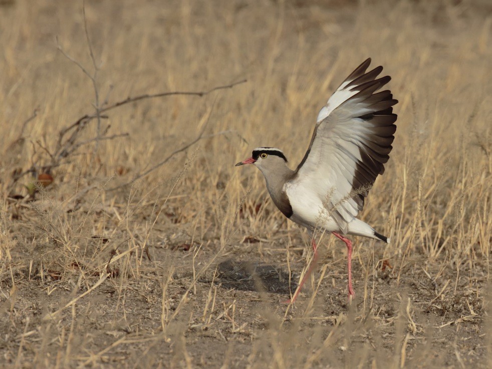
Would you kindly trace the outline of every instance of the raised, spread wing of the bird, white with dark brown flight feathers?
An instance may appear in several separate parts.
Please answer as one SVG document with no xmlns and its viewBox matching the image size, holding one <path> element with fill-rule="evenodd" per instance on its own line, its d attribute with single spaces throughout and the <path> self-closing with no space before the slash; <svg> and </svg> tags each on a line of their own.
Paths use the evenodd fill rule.
<svg viewBox="0 0 492 369">
<path fill-rule="evenodd" d="M 391 91 L 377 92 L 390 77 L 366 73 L 362 63 L 340 85 L 318 115 L 311 144 L 293 181 L 322 199 L 342 231 L 364 206 L 364 198 L 389 159 L 398 103 Z"/>
</svg>

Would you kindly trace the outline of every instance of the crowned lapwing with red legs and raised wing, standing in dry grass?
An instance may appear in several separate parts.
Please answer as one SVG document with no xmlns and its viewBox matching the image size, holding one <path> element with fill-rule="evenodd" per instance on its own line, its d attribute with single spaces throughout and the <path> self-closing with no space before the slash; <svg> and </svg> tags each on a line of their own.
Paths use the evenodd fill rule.
<svg viewBox="0 0 492 369">
<path fill-rule="evenodd" d="M 294 303 L 318 259 L 315 231 L 331 232 L 347 246 L 348 298 L 352 286 L 352 241 L 355 235 L 389 243 L 369 224 L 358 219 L 364 200 L 389 159 L 397 115 L 390 90 L 380 91 L 390 76 L 383 67 L 366 72 L 371 58 L 359 65 L 331 95 L 318 114 L 304 158 L 295 170 L 284 152 L 258 147 L 235 166 L 252 164 L 263 173 L 270 197 L 293 222 L 307 228 L 314 256 L 291 299 Z"/>
</svg>

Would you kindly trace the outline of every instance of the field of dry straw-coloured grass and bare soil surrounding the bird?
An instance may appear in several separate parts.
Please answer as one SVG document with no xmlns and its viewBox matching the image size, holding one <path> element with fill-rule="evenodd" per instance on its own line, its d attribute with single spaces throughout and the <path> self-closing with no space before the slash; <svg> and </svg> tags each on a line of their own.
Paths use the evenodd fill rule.
<svg viewBox="0 0 492 369">
<path fill-rule="evenodd" d="M 99 105 L 248 83 L 113 110 L 101 129 L 129 136 L 81 146 L 33 198 L 35 178 L 16 175 L 94 113 L 94 86 L 56 37 L 93 64 L 81 3 L 0 2 L 2 367 L 488 367 L 492 9 L 367 3 L 88 1 Z M 281 304 L 309 240 L 260 172 L 233 164 L 268 145 L 294 166 L 366 57 L 400 101 L 362 214 L 392 243 L 355 240 L 347 307 L 345 248 L 323 236 L 311 288 Z"/>
</svg>

